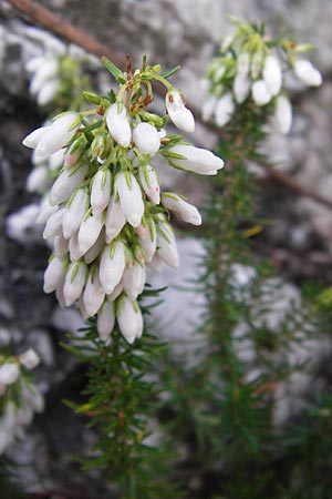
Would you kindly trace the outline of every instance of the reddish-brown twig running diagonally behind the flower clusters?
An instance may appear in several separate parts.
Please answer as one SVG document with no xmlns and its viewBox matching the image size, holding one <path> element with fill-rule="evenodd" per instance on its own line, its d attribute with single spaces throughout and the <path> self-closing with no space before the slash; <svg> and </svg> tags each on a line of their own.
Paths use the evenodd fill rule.
<svg viewBox="0 0 332 499">
<path fill-rule="evenodd" d="M 87 35 L 79 28 L 75 28 L 69 22 L 65 22 L 61 17 L 50 12 L 44 7 L 41 7 L 39 3 L 32 0 L 8 0 L 8 1 L 12 7 L 14 7 L 20 12 L 28 16 L 34 22 L 40 23 L 54 34 L 58 34 L 59 37 L 63 38 L 64 40 L 71 43 L 75 43 L 82 47 L 87 52 L 94 53 L 100 58 L 105 55 L 107 59 L 112 60 L 112 62 L 114 62 L 114 64 L 116 64 L 118 68 L 125 70 L 126 58 L 124 55 L 110 51 L 110 49 L 106 45 L 97 42 L 94 38 Z M 155 91 L 159 95 L 165 94 L 165 90 L 158 85 L 156 85 Z M 209 128 L 212 133 L 218 133 L 218 131 L 210 128 L 207 123 L 203 121 L 200 112 L 196 109 L 195 105 L 191 105 L 190 103 L 187 104 L 188 108 L 193 111 L 195 119 L 198 122 L 204 124 L 206 128 Z M 322 204 L 332 210 L 332 201 L 315 193 L 311 189 L 300 184 L 287 173 L 277 171 L 270 166 L 266 167 L 266 171 L 271 179 L 279 182 L 280 184 L 286 185 L 291 191 L 300 194 L 301 196 L 315 201 L 317 203 Z"/>
</svg>

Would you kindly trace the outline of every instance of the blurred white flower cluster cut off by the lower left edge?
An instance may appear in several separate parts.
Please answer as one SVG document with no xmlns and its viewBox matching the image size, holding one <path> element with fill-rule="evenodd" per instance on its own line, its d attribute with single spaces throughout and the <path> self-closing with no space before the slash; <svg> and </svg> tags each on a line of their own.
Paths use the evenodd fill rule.
<svg viewBox="0 0 332 499">
<path fill-rule="evenodd" d="M 40 361 L 30 348 L 18 357 L 0 356 L 0 455 L 30 425 L 33 414 L 43 410 L 43 397 L 25 376 Z"/>
</svg>

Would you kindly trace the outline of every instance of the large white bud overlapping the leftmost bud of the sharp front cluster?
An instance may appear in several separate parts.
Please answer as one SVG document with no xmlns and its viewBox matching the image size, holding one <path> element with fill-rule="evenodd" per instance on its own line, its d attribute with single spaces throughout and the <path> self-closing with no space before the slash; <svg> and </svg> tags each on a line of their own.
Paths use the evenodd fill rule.
<svg viewBox="0 0 332 499">
<path fill-rule="evenodd" d="M 48 132 L 38 141 L 37 155 L 48 156 L 62 149 L 74 136 L 80 125 L 80 115 L 73 111 L 55 119 Z"/>
</svg>

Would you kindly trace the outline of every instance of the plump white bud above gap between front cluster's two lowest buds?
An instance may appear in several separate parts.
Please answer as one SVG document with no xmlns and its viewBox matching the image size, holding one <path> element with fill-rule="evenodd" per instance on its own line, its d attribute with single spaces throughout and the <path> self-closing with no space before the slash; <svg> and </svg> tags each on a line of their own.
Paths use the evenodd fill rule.
<svg viewBox="0 0 332 499">
<path fill-rule="evenodd" d="M 126 265 L 126 247 L 122 241 L 107 245 L 100 265 L 100 279 L 104 292 L 110 294 L 120 283 Z"/>
</svg>

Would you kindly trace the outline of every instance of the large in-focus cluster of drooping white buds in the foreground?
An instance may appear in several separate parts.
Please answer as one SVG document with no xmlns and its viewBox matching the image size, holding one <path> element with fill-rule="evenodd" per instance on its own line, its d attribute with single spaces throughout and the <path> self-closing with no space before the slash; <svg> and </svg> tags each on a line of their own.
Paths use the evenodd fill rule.
<svg viewBox="0 0 332 499">
<path fill-rule="evenodd" d="M 44 275 L 45 293 L 55 292 L 62 306 L 79 304 L 84 318 L 96 315 L 100 337 L 106 340 L 115 323 L 128 343 L 143 332 L 137 302 L 146 265 L 178 266 L 168 211 L 194 225 L 201 223 L 195 206 L 176 193 L 160 193 L 154 157 L 203 175 L 224 166 L 211 152 L 184 143 L 164 126 L 167 115 L 147 111 L 152 83 L 167 88 L 165 106 L 173 123 L 193 132 L 195 121 L 183 93 L 144 62 L 133 74 L 105 65 L 120 82 L 117 95 L 85 92 L 95 109 L 69 111 L 30 133 L 23 144 L 38 159 L 62 157 L 38 221 L 54 253 Z M 56 162 L 55 161 L 55 162 Z"/>
</svg>

